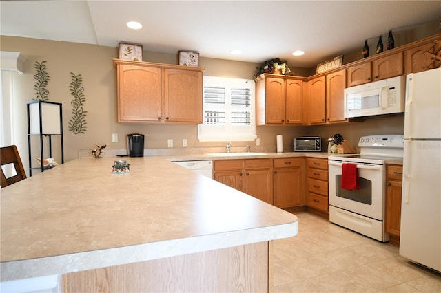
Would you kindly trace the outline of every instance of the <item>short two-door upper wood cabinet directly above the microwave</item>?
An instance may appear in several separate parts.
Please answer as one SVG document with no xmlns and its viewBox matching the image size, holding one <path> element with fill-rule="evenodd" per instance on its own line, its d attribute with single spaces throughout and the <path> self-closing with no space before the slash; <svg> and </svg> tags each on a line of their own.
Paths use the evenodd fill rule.
<svg viewBox="0 0 441 293">
<path fill-rule="evenodd" d="M 404 74 L 403 52 L 367 61 L 347 69 L 347 86 L 362 85 Z"/>
</svg>

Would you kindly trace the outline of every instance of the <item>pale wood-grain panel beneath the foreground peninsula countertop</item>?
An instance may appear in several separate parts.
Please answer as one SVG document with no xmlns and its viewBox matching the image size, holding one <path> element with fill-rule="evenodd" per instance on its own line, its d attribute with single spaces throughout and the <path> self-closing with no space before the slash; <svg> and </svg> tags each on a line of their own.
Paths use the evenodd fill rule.
<svg viewBox="0 0 441 293">
<path fill-rule="evenodd" d="M 62 292 L 271 292 L 268 241 L 64 274 Z"/>
</svg>

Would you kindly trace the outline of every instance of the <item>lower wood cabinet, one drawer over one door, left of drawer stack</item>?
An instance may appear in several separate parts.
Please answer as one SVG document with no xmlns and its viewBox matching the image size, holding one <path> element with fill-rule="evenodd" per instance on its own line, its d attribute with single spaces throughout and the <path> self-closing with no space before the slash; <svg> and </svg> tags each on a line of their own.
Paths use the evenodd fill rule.
<svg viewBox="0 0 441 293">
<path fill-rule="evenodd" d="M 304 206 L 305 158 L 278 158 L 273 161 L 274 205 L 279 208 Z"/>
</svg>

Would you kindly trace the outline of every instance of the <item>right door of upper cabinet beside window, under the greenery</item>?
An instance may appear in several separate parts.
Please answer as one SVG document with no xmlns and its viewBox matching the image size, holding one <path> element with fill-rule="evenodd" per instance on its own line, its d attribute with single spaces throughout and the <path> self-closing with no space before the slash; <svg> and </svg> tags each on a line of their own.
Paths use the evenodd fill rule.
<svg viewBox="0 0 441 293">
<path fill-rule="evenodd" d="M 302 80 L 285 80 L 286 124 L 302 124 Z"/>
</svg>

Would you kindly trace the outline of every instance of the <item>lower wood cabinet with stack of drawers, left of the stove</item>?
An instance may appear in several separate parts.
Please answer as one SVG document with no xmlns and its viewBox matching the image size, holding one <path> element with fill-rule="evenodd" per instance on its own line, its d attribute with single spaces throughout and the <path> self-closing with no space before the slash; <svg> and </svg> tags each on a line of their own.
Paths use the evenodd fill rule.
<svg viewBox="0 0 441 293">
<path fill-rule="evenodd" d="M 307 158 L 307 206 L 329 213 L 328 160 Z"/>
</svg>

